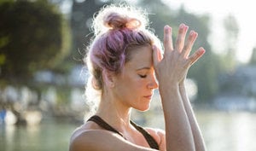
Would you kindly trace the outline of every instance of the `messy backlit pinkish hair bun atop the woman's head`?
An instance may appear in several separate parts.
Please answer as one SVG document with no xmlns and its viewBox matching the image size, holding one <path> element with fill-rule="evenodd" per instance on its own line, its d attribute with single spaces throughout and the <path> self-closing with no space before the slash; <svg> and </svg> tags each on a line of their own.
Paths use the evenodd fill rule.
<svg viewBox="0 0 256 151">
<path fill-rule="evenodd" d="M 96 34 L 115 29 L 139 29 L 145 28 L 148 20 L 146 14 L 130 6 L 110 5 L 103 8 L 93 22 L 94 32 Z"/>
</svg>

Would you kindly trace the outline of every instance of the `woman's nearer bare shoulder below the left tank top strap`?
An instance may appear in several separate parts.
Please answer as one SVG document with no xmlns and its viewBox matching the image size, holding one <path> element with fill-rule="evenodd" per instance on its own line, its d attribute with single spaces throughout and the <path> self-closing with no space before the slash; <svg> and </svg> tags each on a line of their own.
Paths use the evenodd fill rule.
<svg viewBox="0 0 256 151">
<path fill-rule="evenodd" d="M 125 139 L 118 134 L 100 129 L 78 128 L 73 132 L 70 140 L 69 151 L 153 151 L 143 148 Z"/>
</svg>

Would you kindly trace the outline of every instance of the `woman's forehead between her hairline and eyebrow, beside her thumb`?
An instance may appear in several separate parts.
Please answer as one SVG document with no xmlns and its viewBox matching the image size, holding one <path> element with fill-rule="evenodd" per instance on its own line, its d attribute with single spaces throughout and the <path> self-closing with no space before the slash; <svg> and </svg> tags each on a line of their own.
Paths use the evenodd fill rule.
<svg viewBox="0 0 256 151">
<path fill-rule="evenodd" d="M 125 67 L 151 67 L 152 48 L 150 45 L 135 47 L 131 50 L 131 59 L 126 62 Z"/>
</svg>

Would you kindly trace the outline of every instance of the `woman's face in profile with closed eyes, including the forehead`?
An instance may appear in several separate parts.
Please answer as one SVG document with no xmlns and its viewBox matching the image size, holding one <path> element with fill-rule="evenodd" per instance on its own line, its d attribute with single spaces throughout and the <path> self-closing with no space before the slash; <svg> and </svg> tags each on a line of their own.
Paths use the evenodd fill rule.
<svg viewBox="0 0 256 151">
<path fill-rule="evenodd" d="M 131 60 L 114 78 L 114 96 L 126 107 L 145 111 L 150 107 L 153 90 L 157 87 L 152 48 L 148 45 L 132 49 Z"/>
</svg>

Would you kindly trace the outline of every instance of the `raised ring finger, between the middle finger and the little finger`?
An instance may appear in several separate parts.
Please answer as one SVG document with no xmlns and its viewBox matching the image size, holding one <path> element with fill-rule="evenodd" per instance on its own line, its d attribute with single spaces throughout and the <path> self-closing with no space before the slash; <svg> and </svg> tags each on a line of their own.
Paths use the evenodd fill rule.
<svg viewBox="0 0 256 151">
<path fill-rule="evenodd" d="M 195 44 L 195 39 L 197 38 L 197 36 L 198 36 L 198 33 L 195 31 L 191 31 L 189 33 L 189 38 L 183 48 L 183 56 L 185 58 L 187 58 L 189 56 L 191 49 L 192 49 L 193 45 Z"/>
</svg>

